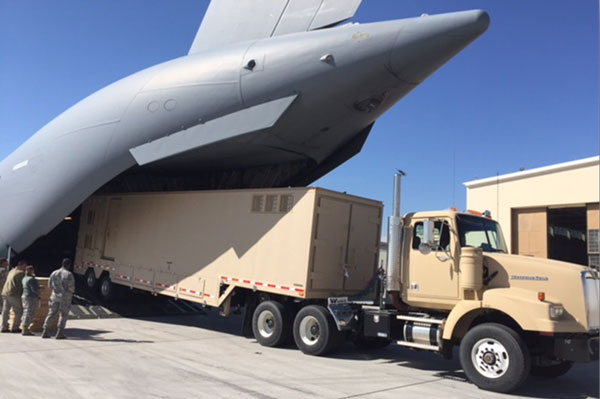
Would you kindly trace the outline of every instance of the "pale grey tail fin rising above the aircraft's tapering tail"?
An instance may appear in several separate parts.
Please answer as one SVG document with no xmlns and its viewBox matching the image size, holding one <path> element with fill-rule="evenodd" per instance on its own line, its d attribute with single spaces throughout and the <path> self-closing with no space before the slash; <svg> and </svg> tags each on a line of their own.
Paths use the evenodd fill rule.
<svg viewBox="0 0 600 399">
<path fill-rule="evenodd" d="M 362 0 L 212 0 L 189 54 L 321 29 L 352 18 Z"/>
</svg>

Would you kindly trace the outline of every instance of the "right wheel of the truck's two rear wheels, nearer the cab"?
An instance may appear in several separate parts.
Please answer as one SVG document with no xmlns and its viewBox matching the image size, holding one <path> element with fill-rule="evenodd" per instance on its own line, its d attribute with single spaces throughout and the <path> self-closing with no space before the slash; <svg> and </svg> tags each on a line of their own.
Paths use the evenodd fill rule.
<svg viewBox="0 0 600 399">
<path fill-rule="evenodd" d="M 338 347 L 341 333 L 331 314 L 323 306 L 309 305 L 294 319 L 294 341 L 307 355 L 325 355 Z"/>
</svg>

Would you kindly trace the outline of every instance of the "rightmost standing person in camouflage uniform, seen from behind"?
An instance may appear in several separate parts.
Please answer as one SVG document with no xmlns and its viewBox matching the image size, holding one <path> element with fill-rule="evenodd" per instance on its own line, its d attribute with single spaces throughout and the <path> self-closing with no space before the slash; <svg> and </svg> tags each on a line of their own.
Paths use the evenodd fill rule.
<svg viewBox="0 0 600 399">
<path fill-rule="evenodd" d="M 75 292 L 75 278 L 71 273 L 71 259 L 63 259 L 61 268 L 53 271 L 50 275 L 48 286 L 52 289 L 52 295 L 50 301 L 48 301 L 48 316 L 44 320 L 42 338 L 50 337 L 48 328 L 51 324 L 54 324 L 56 315 L 59 314 L 56 339 L 65 339 L 65 325 L 67 324 L 67 317 L 69 317 L 71 299 Z"/>
</svg>

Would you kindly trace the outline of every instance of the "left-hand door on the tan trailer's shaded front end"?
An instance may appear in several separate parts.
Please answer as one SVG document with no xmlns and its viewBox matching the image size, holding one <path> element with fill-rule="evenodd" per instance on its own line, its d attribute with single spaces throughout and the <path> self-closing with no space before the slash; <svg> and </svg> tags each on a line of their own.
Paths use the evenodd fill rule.
<svg viewBox="0 0 600 399">
<path fill-rule="evenodd" d="M 318 198 L 310 288 L 341 291 L 348 245 L 350 203 Z"/>
</svg>

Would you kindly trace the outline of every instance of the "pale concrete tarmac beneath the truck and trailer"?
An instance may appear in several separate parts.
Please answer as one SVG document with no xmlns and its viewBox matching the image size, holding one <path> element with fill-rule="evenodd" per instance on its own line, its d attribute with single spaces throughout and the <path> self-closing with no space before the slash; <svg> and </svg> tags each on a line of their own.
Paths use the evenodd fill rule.
<svg viewBox="0 0 600 399">
<path fill-rule="evenodd" d="M 397 346 L 348 344 L 312 357 L 239 335 L 239 316 L 69 320 L 68 340 L 0 334 L 0 398 L 552 398 L 599 397 L 598 362 L 514 394 L 479 390 L 458 360 Z"/>
</svg>

